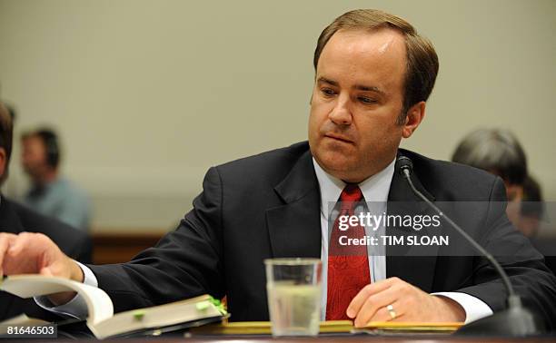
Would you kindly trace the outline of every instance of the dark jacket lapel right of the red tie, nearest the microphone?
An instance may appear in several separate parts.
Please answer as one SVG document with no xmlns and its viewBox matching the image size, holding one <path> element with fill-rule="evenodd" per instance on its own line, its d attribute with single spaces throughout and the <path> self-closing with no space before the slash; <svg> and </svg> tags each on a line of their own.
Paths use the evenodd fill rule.
<svg viewBox="0 0 556 343">
<path fill-rule="evenodd" d="M 412 181 L 419 191 L 422 191 L 429 200 L 434 201 L 434 197 L 422 186 L 416 172 L 412 173 Z M 426 203 L 413 194 L 409 184 L 400 174 L 397 162 L 388 196 L 388 214 L 402 216 L 432 214 Z M 389 228 L 386 230 L 387 235 L 403 236 L 404 243 L 407 242 L 408 236 L 419 237 L 429 233 L 430 230 L 427 229 Z M 389 246 L 386 249 L 386 274 L 389 278 L 398 277 L 429 292 L 432 290 L 437 251 L 438 246 L 408 246 L 407 244 Z"/>
</svg>

